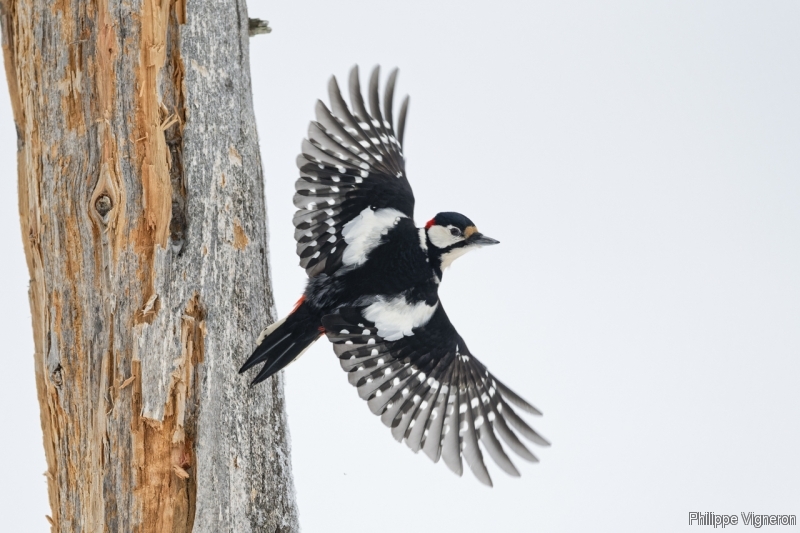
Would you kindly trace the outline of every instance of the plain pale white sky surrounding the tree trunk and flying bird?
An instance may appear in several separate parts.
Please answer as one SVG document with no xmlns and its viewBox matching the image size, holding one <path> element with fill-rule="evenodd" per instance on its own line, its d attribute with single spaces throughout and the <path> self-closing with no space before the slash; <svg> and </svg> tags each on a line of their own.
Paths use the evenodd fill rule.
<svg viewBox="0 0 800 533">
<path fill-rule="evenodd" d="M 445 272 L 448 314 L 553 442 L 532 445 L 540 464 L 516 461 L 521 479 L 459 479 L 394 442 L 319 342 L 286 371 L 304 532 L 672 532 L 690 511 L 800 515 L 800 4 L 250 14 L 274 28 L 251 60 L 279 312 L 305 281 L 292 194 L 314 103 L 355 63 L 364 77 L 399 66 L 417 222 L 459 211 L 501 241 Z M 6 94 L 0 135 L 0 530 L 43 532 Z"/>
</svg>

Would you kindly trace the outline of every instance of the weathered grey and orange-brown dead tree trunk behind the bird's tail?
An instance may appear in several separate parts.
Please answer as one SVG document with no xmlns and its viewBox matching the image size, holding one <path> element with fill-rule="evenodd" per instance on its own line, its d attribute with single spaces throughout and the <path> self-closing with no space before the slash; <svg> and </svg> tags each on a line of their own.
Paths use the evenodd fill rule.
<svg viewBox="0 0 800 533">
<path fill-rule="evenodd" d="M 297 531 L 244 0 L 0 0 L 52 531 Z"/>
</svg>

